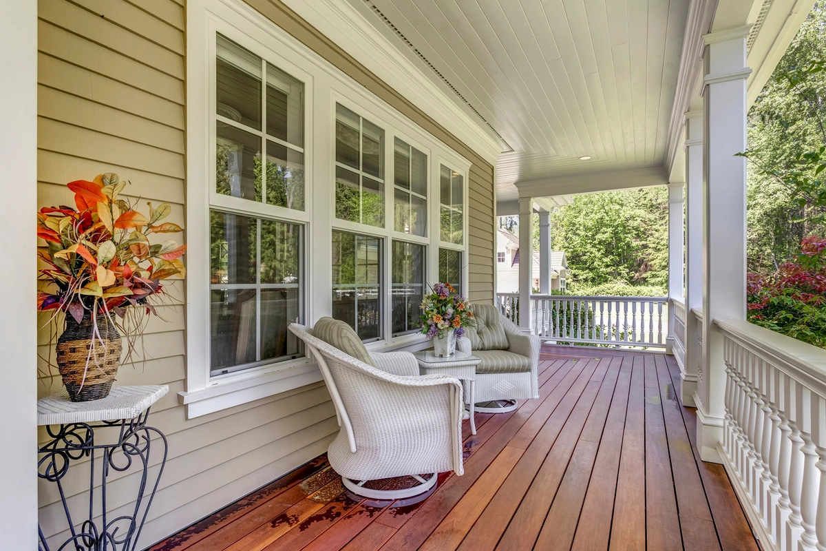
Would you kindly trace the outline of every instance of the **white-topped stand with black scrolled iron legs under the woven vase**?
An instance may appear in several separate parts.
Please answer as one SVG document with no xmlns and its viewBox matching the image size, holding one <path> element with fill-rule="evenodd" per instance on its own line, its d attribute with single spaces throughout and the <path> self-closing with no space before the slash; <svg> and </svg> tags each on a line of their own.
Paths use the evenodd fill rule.
<svg viewBox="0 0 826 551">
<path fill-rule="evenodd" d="M 160 430 L 146 425 L 146 420 L 150 406 L 167 392 L 169 387 L 166 385 L 113 387 L 108 397 L 74 402 L 69 401 L 69 394 L 63 389 L 37 401 L 37 424 L 45 425 L 50 437 L 49 442 L 37 450 L 37 475 L 57 484 L 71 533 L 59 549 L 138 549 L 140 530 L 164 473 L 167 454 L 166 437 Z M 155 474 L 150 473 L 153 446 L 161 457 Z M 69 512 L 63 477 L 69 473 L 69 464 L 82 458 L 88 458 L 89 518 L 77 522 Z M 100 462 L 98 468 L 97 462 Z M 128 468 L 138 468 L 142 473 L 135 506 L 127 515 L 110 518 L 107 515 L 107 477 L 112 471 L 122 472 Z M 97 480 L 100 481 L 99 490 Z M 99 521 L 96 519 L 96 496 L 101 500 Z M 49 550 L 42 531 L 39 549 Z"/>
</svg>

